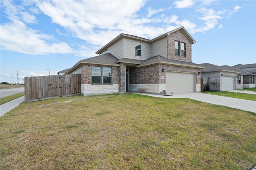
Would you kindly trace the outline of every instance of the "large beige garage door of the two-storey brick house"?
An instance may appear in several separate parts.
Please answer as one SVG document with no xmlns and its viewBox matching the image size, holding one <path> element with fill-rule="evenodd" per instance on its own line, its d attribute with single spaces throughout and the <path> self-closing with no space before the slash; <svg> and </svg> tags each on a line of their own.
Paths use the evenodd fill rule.
<svg viewBox="0 0 256 170">
<path fill-rule="evenodd" d="M 166 93 L 194 92 L 194 74 L 166 72 Z"/>
</svg>

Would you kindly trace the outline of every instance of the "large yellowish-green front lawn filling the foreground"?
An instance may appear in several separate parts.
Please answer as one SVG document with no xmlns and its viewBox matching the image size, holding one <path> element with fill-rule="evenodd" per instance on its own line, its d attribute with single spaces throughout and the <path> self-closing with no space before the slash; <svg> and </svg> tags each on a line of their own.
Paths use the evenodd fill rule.
<svg viewBox="0 0 256 170">
<path fill-rule="evenodd" d="M 191 99 L 63 97 L 21 103 L 0 126 L 5 170 L 244 170 L 256 163 L 254 113 Z"/>
</svg>

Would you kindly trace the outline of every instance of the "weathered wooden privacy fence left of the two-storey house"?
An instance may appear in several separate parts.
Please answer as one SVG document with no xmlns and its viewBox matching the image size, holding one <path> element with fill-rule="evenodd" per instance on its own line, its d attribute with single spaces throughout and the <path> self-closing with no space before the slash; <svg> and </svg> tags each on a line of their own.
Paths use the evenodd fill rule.
<svg viewBox="0 0 256 170">
<path fill-rule="evenodd" d="M 81 74 L 25 77 L 25 102 L 81 94 Z"/>
</svg>

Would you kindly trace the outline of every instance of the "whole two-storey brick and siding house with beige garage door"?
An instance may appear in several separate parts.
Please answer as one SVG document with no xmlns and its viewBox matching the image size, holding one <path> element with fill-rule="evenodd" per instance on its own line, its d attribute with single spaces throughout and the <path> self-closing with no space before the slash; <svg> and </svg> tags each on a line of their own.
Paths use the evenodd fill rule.
<svg viewBox="0 0 256 170">
<path fill-rule="evenodd" d="M 184 27 L 152 40 L 120 34 L 96 51 L 98 56 L 78 61 L 65 74 L 81 73 L 81 93 L 160 94 L 200 92 L 201 68 L 192 63 L 196 41 Z"/>
</svg>

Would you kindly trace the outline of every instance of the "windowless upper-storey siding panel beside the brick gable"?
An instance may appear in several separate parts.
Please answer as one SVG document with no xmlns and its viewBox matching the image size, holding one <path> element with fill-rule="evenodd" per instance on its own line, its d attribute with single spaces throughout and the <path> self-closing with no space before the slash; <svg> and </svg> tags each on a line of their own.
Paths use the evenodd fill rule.
<svg viewBox="0 0 256 170">
<path fill-rule="evenodd" d="M 161 55 L 167 58 L 167 38 L 164 37 L 161 40 L 151 43 L 151 57 Z"/>
</svg>

